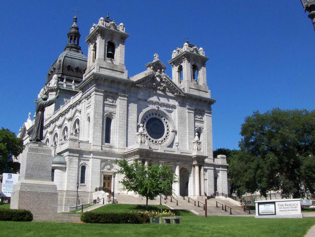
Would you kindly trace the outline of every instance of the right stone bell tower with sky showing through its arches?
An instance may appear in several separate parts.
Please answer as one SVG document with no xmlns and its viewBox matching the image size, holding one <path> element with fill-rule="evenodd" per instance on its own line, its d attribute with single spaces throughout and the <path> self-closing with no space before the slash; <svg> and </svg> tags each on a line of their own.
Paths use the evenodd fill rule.
<svg viewBox="0 0 315 237">
<path fill-rule="evenodd" d="M 172 53 L 169 64 L 172 65 L 172 80 L 186 93 L 210 97 L 207 86 L 206 61 L 203 48 L 186 43 Z"/>
</svg>

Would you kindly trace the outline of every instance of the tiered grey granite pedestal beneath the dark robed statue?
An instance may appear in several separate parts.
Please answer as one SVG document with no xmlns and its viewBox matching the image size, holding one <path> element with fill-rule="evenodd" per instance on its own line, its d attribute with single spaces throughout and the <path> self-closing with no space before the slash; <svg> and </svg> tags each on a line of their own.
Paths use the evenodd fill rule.
<svg viewBox="0 0 315 237">
<path fill-rule="evenodd" d="M 11 209 L 26 209 L 33 215 L 57 213 L 57 186 L 51 182 L 51 149 L 31 142 L 20 155 L 20 178 L 13 186 Z"/>
</svg>

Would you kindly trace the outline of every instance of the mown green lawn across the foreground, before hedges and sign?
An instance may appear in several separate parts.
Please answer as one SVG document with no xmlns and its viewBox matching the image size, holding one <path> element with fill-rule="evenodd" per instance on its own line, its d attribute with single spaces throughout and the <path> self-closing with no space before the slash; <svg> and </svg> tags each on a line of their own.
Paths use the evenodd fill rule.
<svg viewBox="0 0 315 237">
<path fill-rule="evenodd" d="M 185 216 L 178 225 L 0 221 L 0 229 L 1 236 L 304 236 L 314 224 L 314 217 Z"/>
</svg>

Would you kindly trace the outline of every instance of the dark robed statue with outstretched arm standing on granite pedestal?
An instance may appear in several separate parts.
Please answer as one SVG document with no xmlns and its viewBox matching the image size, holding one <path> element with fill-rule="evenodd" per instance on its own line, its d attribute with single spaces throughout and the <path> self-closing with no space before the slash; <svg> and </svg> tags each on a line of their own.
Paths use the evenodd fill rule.
<svg viewBox="0 0 315 237">
<path fill-rule="evenodd" d="M 57 95 L 52 98 L 48 99 L 47 95 L 43 95 L 37 99 L 36 102 L 36 112 L 35 112 L 35 123 L 33 128 L 33 134 L 31 141 L 41 142 L 43 140 L 43 133 L 44 133 L 44 111 L 45 107 L 52 105 L 56 102 L 56 98 L 59 96 L 59 91 Z"/>
</svg>

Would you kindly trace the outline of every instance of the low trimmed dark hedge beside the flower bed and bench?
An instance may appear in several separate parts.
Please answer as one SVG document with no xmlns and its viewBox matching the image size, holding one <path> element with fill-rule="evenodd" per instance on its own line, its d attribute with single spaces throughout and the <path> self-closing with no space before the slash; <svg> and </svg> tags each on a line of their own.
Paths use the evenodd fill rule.
<svg viewBox="0 0 315 237">
<path fill-rule="evenodd" d="M 135 212 L 84 212 L 81 221 L 86 223 L 150 223 L 150 218 L 145 213 Z"/>
</svg>

